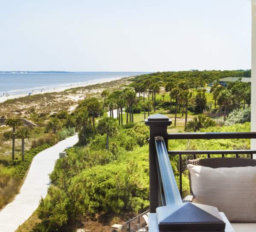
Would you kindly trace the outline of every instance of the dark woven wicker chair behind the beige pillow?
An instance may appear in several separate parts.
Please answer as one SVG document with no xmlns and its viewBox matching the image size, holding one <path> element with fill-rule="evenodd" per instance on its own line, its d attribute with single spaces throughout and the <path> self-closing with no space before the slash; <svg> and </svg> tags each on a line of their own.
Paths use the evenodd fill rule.
<svg viewBox="0 0 256 232">
<path fill-rule="evenodd" d="M 210 168 L 232 168 L 232 167 L 247 167 L 256 166 L 256 160 L 247 158 L 207 158 L 200 160 L 188 160 L 188 164 L 200 165 Z M 183 202 L 192 202 L 194 199 L 191 190 L 191 180 L 189 175 L 189 184 L 191 195 L 186 196 Z M 235 232 L 255 232 L 256 223 L 231 223 Z"/>
</svg>

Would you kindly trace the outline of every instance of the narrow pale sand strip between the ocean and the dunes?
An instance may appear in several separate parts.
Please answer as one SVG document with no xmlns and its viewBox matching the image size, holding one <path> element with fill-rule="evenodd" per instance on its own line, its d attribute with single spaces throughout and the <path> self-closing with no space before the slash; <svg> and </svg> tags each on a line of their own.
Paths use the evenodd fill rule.
<svg viewBox="0 0 256 232">
<path fill-rule="evenodd" d="M 75 88 L 79 88 L 79 87 L 85 87 L 85 86 L 91 86 L 91 85 L 95 85 L 95 84 L 102 84 L 102 83 L 106 83 L 106 82 L 110 82 L 113 80 L 121 80 L 123 78 L 127 78 L 127 77 L 109 77 L 109 78 L 102 78 L 102 79 L 98 79 L 98 80 L 88 80 L 86 82 L 83 83 L 78 83 L 78 84 L 66 84 L 63 86 L 57 86 L 54 89 L 46 89 L 46 90 L 37 90 L 32 92 L 32 95 L 38 95 L 38 94 L 45 94 L 45 93 L 58 93 L 58 92 L 62 92 L 65 91 L 67 89 L 75 89 Z M 29 96 L 28 93 L 21 93 L 21 94 L 12 94 L 12 95 L 0 95 L 0 103 L 5 102 L 6 100 L 10 100 L 10 99 L 16 99 L 16 98 L 20 98 L 20 97 L 27 97 Z"/>
</svg>

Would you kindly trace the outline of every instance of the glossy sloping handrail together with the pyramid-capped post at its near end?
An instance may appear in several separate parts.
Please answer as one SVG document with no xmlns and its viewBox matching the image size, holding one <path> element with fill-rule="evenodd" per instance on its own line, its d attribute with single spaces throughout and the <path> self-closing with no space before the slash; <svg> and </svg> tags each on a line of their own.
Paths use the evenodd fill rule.
<svg viewBox="0 0 256 232">
<path fill-rule="evenodd" d="M 182 202 L 164 138 L 155 137 L 155 143 L 162 207 L 158 207 L 156 213 L 150 213 L 149 231 L 224 231 L 225 219 L 215 207 Z"/>
</svg>

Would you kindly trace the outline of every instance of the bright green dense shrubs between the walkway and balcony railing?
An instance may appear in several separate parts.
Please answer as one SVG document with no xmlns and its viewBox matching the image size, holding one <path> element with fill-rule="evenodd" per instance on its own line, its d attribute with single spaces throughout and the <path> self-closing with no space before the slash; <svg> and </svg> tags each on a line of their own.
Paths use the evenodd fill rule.
<svg viewBox="0 0 256 232">
<path fill-rule="evenodd" d="M 249 131 L 250 123 L 233 126 L 214 126 L 204 131 Z M 140 132 L 138 132 L 140 131 Z M 146 132 L 145 132 L 146 131 Z M 143 132 L 143 133 L 142 133 Z M 49 196 L 42 199 L 38 216 L 42 220 L 35 231 L 71 231 L 81 216 L 94 218 L 95 215 L 109 217 L 134 214 L 147 209 L 148 179 L 148 129 L 144 125 L 129 129 L 119 128 L 119 135 L 110 138 L 107 151 L 106 135 L 97 135 L 88 146 L 68 149 L 68 157 L 57 161 L 50 175 L 53 186 Z M 133 136 L 136 134 L 136 136 Z M 139 146 L 138 141 L 141 140 Z M 139 139 L 138 139 L 139 138 Z M 134 139 L 133 149 L 126 147 L 126 140 Z M 112 149 L 111 149 L 112 147 Z M 170 140 L 169 149 L 248 149 L 250 140 Z M 126 148 L 126 149 L 125 149 Z M 204 157 L 204 156 L 202 156 Z M 190 157 L 183 156 L 185 160 Z M 178 157 L 170 157 L 174 174 L 179 172 Z M 189 193 L 187 171 L 183 172 L 183 195 Z M 104 216 L 105 215 L 105 216 Z M 128 219 L 128 218 L 127 218 Z"/>
</svg>

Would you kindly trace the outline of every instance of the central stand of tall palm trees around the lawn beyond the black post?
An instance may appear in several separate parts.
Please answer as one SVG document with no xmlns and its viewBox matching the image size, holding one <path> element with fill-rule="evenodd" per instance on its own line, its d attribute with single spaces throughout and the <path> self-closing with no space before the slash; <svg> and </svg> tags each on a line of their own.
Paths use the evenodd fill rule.
<svg viewBox="0 0 256 232">
<path fill-rule="evenodd" d="M 192 80 L 191 80 L 192 79 Z M 109 108 L 110 117 L 114 117 L 114 110 L 117 112 L 117 119 L 119 125 L 123 125 L 123 109 L 127 112 L 126 123 L 133 123 L 133 107 L 140 104 L 144 110 L 144 119 L 147 115 L 150 116 L 150 111 L 156 112 L 156 95 L 159 94 L 161 85 L 165 86 L 165 91 L 169 92 L 172 100 L 175 100 L 175 120 L 174 125 L 177 125 L 177 112 L 182 107 L 182 116 L 185 113 L 185 125 L 188 121 L 188 104 L 194 96 L 194 89 L 199 94 L 194 97 L 195 102 L 198 104 L 200 111 L 203 112 L 203 107 L 206 104 L 204 86 L 206 81 L 200 78 L 181 79 L 180 77 L 172 76 L 161 83 L 156 78 L 146 78 L 139 83 L 132 83 L 132 88 L 124 90 L 117 90 L 109 93 L 103 90 L 101 97 L 104 99 L 104 106 Z M 165 96 L 165 95 L 164 95 Z M 164 101 L 164 97 L 163 97 Z"/>
</svg>

